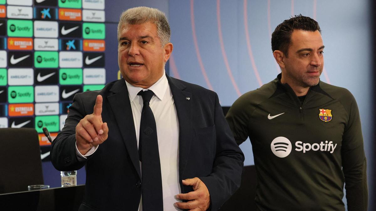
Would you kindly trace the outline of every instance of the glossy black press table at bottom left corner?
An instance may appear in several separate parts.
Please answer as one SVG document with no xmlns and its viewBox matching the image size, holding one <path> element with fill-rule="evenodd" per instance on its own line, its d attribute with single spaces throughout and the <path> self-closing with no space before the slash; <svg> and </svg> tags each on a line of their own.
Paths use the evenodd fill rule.
<svg viewBox="0 0 376 211">
<path fill-rule="evenodd" d="M 85 185 L 0 194 L 1 210 L 78 210 Z"/>
</svg>

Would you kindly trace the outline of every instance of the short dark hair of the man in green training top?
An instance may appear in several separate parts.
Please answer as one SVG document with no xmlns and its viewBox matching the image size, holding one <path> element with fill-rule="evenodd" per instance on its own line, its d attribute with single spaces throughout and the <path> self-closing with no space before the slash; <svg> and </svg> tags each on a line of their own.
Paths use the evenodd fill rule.
<svg viewBox="0 0 376 211">
<path fill-rule="evenodd" d="M 282 51 L 287 57 L 288 46 L 291 43 L 291 34 L 295 29 L 311 32 L 319 31 L 321 33 L 317 21 L 302 14 L 295 15 L 295 17 L 284 20 L 271 34 L 271 50 L 273 52 L 275 50 Z"/>
</svg>

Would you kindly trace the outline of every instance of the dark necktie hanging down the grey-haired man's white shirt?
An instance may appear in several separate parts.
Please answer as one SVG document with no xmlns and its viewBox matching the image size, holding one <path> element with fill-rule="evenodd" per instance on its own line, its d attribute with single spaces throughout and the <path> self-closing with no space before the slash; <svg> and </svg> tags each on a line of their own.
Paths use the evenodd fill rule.
<svg viewBox="0 0 376 211">
<path fill-rule="evenodd" d="M 138 155 L 142 170 L 142 206 L 144 211 L 163 211 L 157 127 L 152 109 L 149 106 L 154 92 L 152 90 L 141 90 L 138 95 L 141 95 L 144 100 L 138 141 Z"/>
</svg>

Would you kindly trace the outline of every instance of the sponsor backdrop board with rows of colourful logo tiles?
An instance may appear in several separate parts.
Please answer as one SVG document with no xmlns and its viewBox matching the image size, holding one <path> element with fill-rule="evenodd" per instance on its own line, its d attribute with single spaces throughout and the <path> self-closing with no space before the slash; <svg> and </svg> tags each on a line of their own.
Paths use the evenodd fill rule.
<svg viewBox="0 0 376 211">
<path fill-rule="evenodd" d="M 117 58 L 105 60 L 108 26 L 116 53 L 117 21 L 105 23 L 105 15 L 105 0 L 0 0 L 0 128 L 39 133 L 50 187 L 59 186 L 60 176 L 49 175 L 55 169 L 42 128 L 55 139 L 76 93 L 117 79 Z M 77 176 L 84 184 L 84 170 Z"/>
</svg>

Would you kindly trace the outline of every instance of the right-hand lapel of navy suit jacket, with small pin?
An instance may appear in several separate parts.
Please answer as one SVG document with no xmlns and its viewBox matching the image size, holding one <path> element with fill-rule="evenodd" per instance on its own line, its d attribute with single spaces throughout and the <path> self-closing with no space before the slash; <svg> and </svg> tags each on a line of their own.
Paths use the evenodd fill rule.
<svg viewBox="0 0 376 211">
<path fill-rule="evenodd" d="M 192 137 L 192 94 L 178 80 L 167 76 L 179 120 L 179 175 L 182 176 L 188 162 Z"/>
</svg>

